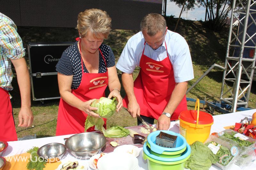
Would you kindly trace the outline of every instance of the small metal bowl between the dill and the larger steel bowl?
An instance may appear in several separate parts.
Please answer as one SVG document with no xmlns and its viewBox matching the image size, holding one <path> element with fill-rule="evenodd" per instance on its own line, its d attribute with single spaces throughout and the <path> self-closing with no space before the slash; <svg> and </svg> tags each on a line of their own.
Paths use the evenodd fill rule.
<svg viewBox="0 0 256 170">
<path fill-rule="evenodd" d="M 59 161 L 63 155 L 67 152 L 67 148 L 64 144 L 50 143 L 42 146 L 37 150 L 37 155 L 46 160 L 46 162 Z"/>
</svg>

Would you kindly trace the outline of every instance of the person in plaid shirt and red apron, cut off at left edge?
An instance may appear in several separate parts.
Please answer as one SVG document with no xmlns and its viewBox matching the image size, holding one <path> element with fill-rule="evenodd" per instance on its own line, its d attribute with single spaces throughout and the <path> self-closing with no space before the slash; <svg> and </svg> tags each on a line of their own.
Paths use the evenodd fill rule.
<svg viewBox="0 0 256 170">
<path fill-rule="evenodd" d="M 11 64 L 16 70 L 21 96 L 18 126 L 29 127 L 33 122 L 30 79 L 24 55 L 25 48 L 17 33 L 17 26 L 10 18 L 0 13 L 0 140 L 17 140 L 9 95 L 9 91 L 13 89 Z"/>
</svg>

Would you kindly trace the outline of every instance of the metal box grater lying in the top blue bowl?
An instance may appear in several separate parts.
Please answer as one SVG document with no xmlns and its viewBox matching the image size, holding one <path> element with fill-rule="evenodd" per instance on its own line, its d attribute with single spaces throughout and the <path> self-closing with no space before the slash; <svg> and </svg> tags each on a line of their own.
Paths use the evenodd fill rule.
<svg viewBox="0 0 256 170">
<path fill-rule="evenodd" d="M 175 148 L 177 141 L 177 136 L 170 135 L 168 133 L 160 132 L 156 136 L 156 145 L 165 147 L 165 148 Z"/>
</svg>

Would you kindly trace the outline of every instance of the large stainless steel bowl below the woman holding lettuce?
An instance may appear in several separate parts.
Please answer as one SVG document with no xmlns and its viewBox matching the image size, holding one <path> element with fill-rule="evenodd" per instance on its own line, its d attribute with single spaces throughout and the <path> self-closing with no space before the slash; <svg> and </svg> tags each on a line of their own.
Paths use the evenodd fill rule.
<svg viewBox="0 0 256 170">
<path fill-rule="evenodd" d="M 78 133 L 65 142 L 70 153 L 80 159 L 89 159 L 100 153 L 105 144 L 106 138 L 95 132 Z"/>
</svg>

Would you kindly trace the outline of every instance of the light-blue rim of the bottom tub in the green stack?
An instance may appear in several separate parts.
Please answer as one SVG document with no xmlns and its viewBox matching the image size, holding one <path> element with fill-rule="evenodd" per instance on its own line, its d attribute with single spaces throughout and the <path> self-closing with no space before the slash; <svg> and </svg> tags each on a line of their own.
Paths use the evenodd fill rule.
<svg viewBox="0 0 256 170">
<path fill-rule="evenodd" d="M 165 161 L 165 162 L 174 162 L 174 161 L 179 161 L 179 160 L 182 160 L 182 159 L 186 159 L 188 156 L 190 156 L 191 148 L 190 148 L 188 143 L 186 145 L 187 145 L 187 148 L 186 148 L 185 152 L 183 152 L 180 157 L 176 157 L 176 158 L 163 158 L 163 157 L 153 155 L 153 154 L 150 153 L 149 147 L 147 147 L 145 144 L 143 145 L 143 152 L 148 157 L 150 157 L 152 159 L 156 159 L 156 160 L 159 160 L 159 161 Z"/>
</svg>

